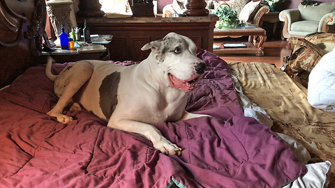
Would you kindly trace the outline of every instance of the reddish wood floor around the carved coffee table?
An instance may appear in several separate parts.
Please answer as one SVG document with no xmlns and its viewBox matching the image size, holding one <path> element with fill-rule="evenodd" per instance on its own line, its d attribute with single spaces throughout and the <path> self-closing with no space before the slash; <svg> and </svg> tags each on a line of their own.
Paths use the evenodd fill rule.
<svg viewBox="0 0 335 188">
<path fill-rule="evenodd" d="M 248 42 L 248 38 L 220 38 L 214 39 L 214 45 L 219 45 L 222 42 Z M 226 62 L 263 62 L 276 65 L 280 68 L 283 65 L 283 57 L 290 55 L 290 45 L 286 40 L 277 38 L 269 38 L 262 47 L 264 47 L 264 56 L 255 56 L 251 54 L 219 54 Z"/>
</svg>

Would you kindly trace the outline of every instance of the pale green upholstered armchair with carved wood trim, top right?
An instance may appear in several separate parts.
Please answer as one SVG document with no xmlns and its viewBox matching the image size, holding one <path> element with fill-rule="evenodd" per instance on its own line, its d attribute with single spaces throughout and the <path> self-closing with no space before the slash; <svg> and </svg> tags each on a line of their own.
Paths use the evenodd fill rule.
<svg viewBox="0 0 335 188">
<path fill-rule="evenodd" d="M 281 11 L 279 19 L 284 22 L 283 38 L 303 38 L 315 32 L 329 33 L 329 27 L 335 26 L 335 2 L 318 6 L 299 4 L 298 8 Z"/>
</svg>

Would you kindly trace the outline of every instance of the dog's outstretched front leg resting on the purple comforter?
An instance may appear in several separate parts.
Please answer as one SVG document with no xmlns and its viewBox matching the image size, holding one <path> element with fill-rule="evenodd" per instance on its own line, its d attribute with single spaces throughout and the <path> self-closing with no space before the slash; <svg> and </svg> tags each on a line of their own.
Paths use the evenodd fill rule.
<svg viewBox="0 0 335 188">
<path fill-rule="evenodd" d="M 181 148 L 165 139 L 161 132 L 152 125 L 135 120 L 121 119 L 110 120 L 107 126 L 126 132 L 142 134 L 154 144 L 154 148 L 161 150 L 165 155 L 181 156 Z"/>
</svg>

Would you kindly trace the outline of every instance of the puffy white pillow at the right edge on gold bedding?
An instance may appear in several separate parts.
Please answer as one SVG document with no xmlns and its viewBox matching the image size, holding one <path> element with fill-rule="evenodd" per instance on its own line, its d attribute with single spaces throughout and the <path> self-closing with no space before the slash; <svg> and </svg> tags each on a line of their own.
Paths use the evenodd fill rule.
<svg viewBox="0 0 335 188">
<path fill-rule="evenodd" d="M 312 107 L 335 111 L 335 48 L 322 56 L 311 71 L 307 100 Z"/>
</svg>

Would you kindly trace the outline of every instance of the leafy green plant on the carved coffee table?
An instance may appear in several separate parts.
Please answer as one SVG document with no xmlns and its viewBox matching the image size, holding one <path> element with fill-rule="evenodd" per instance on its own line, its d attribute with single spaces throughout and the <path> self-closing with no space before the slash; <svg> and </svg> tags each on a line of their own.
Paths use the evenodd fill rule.
<svg viewBox="0 0 335 188">
<path fill-rule="evenodd" d="M 218 29 L 237 28 L 237 26 L 245 25 L 239 21 L 237 12 L 228 6 L 219 6 L 214 14 L 218 16 Z"/>
</svg>

